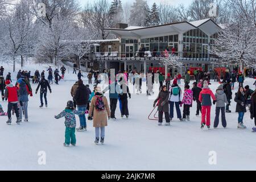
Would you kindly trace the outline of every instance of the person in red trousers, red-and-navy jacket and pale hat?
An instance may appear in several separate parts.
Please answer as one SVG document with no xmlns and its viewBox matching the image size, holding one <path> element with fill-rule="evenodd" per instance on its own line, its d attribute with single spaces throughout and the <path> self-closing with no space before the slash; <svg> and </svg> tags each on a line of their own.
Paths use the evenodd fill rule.
<svg viewBox="0 0 256 182">
<path fill-rule="evenodd" d="M 202 116 L 201 116 L 201 129 L 204 127 L 205 123 L 208 127 L 210 128 L 210 107 L 212 106 L 212 101 L 210 100 L 210 97 L 212 97 L 213 101 L 216 101 L 216 98 L 210 90 L 208 86 L 208 82 L 205 80 L 203 89 L 199 94 L 199 101 L 201 102 L 202 105 Z M 206 117 L 206 122 L 205 122 L 205 117 Z"/>
</svg>

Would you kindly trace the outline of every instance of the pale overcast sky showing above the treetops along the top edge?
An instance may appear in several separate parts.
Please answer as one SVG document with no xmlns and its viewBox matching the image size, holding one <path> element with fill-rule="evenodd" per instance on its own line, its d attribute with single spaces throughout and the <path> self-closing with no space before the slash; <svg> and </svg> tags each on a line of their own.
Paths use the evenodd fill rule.
<svg viewBox="0 0 256 182">
<path fill-rule="evenodd" d="M 92 2 L 92 0 L 78 0 L 82 6 L 86 5 L 88 2 Z M 112 2 L 112 0 L 108 0 L 109 2 Z M 130 2 L 131 4 L 135 2 L 135 0 L 121 0 L 122 3 Z M 163 2 L 164 0 L 147 0 L 147 3 L 149 6 L 151 6 L 154 2 L 156 2 L 158 5 L 160 2 Z M 183 3 L 186 7 L 192 2 L 192 0 L 166 0 L 166 2 L 170 3 L 171 5 L 178 5 L 180 3 Z"/>
</svg>

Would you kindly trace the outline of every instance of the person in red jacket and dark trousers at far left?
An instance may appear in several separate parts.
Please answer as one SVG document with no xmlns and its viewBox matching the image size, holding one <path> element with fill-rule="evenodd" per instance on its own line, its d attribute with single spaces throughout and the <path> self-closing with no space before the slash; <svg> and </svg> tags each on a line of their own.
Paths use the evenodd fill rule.
<svg viewBox="0 0 256 182">
<path fill-rule="evenodd" d="M 19 124 L 19 111 L 18 111 L 18 88 L 11 84 L 10 80 L 6 80 L 5 98 L 8 99 L 8 109 L 7 109 L 7 125 L 11 124 L 11 109 L 14 108 L 16 114 L 16 123 Z"/>
</svg>

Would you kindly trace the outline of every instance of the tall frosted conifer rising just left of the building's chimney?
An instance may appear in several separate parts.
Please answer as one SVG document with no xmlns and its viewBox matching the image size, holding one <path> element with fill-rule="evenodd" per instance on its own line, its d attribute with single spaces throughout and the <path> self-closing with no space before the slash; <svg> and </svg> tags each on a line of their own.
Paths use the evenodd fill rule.
<svg viewBox="0 0 256 182">
<path fill-rule="evenodd" d="M 121 0 L 113 0 L 109 9 L 110 26 L 114 27 L 116 23 L 122 23 L 123 8 Z"/>
</svg>

